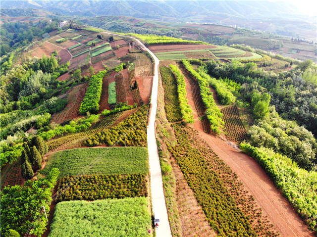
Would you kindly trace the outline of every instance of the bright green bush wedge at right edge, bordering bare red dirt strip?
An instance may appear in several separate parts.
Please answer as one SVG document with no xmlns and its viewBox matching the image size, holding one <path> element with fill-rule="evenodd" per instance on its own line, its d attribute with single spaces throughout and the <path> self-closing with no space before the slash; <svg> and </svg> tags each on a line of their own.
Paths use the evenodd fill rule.
<svg viewBox="0 0 317 237">
<path fill-rule="evenodd" d="M 264 147 L 241 143 L 240 148 L 259 162 L 305 223 L 317 232 L 317 172 L 299 168 L 290 158 Z"/>
</svg>

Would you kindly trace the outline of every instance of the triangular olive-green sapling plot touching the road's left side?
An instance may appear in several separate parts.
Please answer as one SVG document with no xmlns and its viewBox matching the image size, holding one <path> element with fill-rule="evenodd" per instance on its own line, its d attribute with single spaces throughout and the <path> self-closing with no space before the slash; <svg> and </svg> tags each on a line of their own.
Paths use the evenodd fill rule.
<svg viewBox="0 0 317 237">
<path fill-rule="evenodd" d="M 146 146 L 148 109 L 148 105 L 143 105 L 118 125 L 90 136 L 84 144 L 88 146 L 99 144 Z"/>
</svg>

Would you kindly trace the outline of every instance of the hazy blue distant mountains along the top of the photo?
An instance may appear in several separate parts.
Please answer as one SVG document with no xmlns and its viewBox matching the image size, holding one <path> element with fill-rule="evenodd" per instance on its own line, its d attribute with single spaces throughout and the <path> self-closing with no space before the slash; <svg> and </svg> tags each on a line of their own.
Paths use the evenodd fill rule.
<svg viewBox="0 0 317 237">
<path fill-rule="evenodd" d="M 307 17 L 287 1 L 269 0 L 1 0 L 1 8 L 37 8 L 57 15 L 131 16 L 174 22 L 225 24 L 283 35 L 293 25 L 316 32 L 316 17 Z M 265 24 L 264 24 L 265 23 Z M 307 34 L 299 35 L 307 36 Z"/>
</svg>

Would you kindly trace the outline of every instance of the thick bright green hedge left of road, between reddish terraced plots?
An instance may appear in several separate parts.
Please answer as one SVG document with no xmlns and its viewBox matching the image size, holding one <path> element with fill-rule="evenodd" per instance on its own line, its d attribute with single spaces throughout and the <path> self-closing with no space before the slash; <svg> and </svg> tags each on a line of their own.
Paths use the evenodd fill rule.
<svg viewBox="0 0 317 237">
<path fill-rule="evenodd" d="M 88 111 L 91 113 L 97 113 L 99 111 L 99 100 L 102 93 L 103 78 L 106 74 L 106 70 L 93 75 L 89 82 L 89 87 L 79 107 L 79 112 L 85 114 Z"/>
</svg>

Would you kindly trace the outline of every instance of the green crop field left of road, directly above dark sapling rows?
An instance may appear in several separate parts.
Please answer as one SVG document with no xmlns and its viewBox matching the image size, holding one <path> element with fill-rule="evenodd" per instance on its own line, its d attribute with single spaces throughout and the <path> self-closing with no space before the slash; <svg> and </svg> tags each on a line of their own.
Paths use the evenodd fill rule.
<svg viewBox="0 0 317 237">
<path fill-rule="evenodd" d="M 59 178 L 72 175 L 147 174 L 148 150 L 145 147 L 77 148 L 53 153 L 42 174 L 53 167 Z"/>
</svg>

